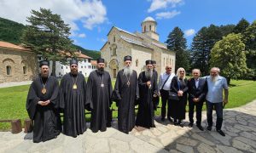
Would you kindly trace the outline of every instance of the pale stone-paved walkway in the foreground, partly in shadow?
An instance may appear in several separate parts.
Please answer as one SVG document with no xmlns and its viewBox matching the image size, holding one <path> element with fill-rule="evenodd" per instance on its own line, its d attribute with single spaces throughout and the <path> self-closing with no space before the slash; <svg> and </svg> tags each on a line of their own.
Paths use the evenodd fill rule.
<svg viewBox="0 0 256 153">
<path fill-rule="evenodd" d="M 206 112 L 202 119 L 206 128 Z M 32 133 L 0 132 L 0 152 L 256 152 L 256 100 L 224 111 L 226 137 L 214 128 L 211 132 L 201 132 L 196 126 L 190 128 L 186 121 L 185 127 L 176 127 L 156 118 L 155 128 L 136 127 L 129 134 L 116 130 L 114 121 L 113 127 L 104 133 L 88 129 L 77 138 L 60 134 L 57 139 L 39 144 L 32 143 Z"/>
</svg>

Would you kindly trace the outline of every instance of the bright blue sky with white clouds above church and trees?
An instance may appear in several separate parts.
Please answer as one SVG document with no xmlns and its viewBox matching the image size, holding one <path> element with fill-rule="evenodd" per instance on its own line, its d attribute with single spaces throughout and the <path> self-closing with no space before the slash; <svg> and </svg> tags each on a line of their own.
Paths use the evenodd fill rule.
<svg viewBox="0 0 256 153">
<path fill-rule="evenodd" d="M 0 0 L 0 16 L 26 24 L 30 10 L 40 7 L 61 14 L 72 28 L 74 43 L 92 50 L 102 48 L 112 26 L 141 31 L 148 16 L 158 23 L 160 42 L 178 26 L 186 33 L 188 46 L 203 26 L 256 20 L 255 0 Z"/>
</svg>

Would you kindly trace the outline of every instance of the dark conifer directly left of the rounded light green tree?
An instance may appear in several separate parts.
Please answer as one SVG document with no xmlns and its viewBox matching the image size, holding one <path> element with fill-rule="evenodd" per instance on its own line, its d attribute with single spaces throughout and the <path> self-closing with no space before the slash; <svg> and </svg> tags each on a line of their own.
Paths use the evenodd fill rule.
<svg viewBox="0 0 256 153">
<path fill-rule="evenodd" d="M 208 74 L 210 53 L 215 42 L 222 38 L 222 31 L 218 26 L 202 27 L 195 34 L 191 46 L 191 66 L 201 70 L 203 76 Z"/>
</svg>

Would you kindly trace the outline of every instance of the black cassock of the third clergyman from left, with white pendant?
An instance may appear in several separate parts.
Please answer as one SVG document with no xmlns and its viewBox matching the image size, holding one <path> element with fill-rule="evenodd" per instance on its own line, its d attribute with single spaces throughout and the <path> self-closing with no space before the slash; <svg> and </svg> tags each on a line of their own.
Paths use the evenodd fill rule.
<svg viewBox="0 0 256 153">
<path fill-rule="evenodd" d="M 90 129 L 93 133 L 97 131 L 106 131 L 107 126 L 111 126 L 112 105 L 112 84 L 107 71 L 102 75 L 98 71 L 90 72 L 86 88 L 86 101 L 90 103 L 91 118 Z"/>
</svg>

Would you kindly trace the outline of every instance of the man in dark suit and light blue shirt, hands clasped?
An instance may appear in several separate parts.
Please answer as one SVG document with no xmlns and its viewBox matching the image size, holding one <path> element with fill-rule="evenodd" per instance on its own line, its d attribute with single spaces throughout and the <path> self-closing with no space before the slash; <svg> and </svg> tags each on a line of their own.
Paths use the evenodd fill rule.
<svg viewBox="0 0 256 153">
<path fill-rule="evenodd" d="M 199 69 L 194 69 L 192 71 L 193 77 L 189 79 L 189 127 L 193 127 L 193 116 L 194 109 L 196 109 L 196 126 L 203 131 L 204 128 L 201 127 L 201 109 L 203 102 L 206 99 L 207 94 L 207 82 L 206 79 L 201 78 L 201 71 Z"/>
</svg>

